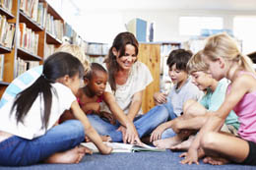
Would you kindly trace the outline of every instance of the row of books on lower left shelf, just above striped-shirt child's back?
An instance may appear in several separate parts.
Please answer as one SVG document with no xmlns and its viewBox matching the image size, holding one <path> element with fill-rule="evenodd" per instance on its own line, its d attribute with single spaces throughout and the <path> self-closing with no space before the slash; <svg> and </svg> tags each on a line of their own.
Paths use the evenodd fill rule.
<svg viewBox="0 0 256 170">
<path fill-rule="evenodd" d="M 32 69 L 33 67 L 39 66 L 38 61 L 29 61 L 29 60 L 23 60 L 20 57 L 17 57 L 17 70 L 16 70 L 16 76 L 22 75 L 24 72 Z"/>
</svg>

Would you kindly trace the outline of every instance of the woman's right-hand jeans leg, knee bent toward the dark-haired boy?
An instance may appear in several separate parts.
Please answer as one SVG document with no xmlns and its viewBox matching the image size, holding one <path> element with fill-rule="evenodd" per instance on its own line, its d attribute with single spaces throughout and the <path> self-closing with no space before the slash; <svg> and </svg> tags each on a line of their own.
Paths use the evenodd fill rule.
<svg viewBox="0 0 256 170">
<path fill-rule="evenodd" d="M 151 134 L 161 123 L 168 120 L 169 113 L 162 104 L 155 106 L 148 113 L 134 122 L 139 137 Z"/>
</svg>

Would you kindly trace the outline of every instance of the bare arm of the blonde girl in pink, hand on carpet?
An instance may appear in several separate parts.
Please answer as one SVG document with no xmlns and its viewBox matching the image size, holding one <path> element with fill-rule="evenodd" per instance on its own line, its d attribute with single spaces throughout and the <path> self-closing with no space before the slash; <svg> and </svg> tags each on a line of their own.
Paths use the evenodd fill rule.
<svg viewBox="0 0 256 170">
<path fill-rule="evenodd" d="M 251 84 L 244 84 L 244 82 L 249 83 L 251 79 L 239 77 L 233 82 L 230 92 L 225 96 L 224 103 L 208 118 L 196 139 L 190 145 L 186 158 L 181 163 L 191 164 L 194 162 L 198 164 L 197 150 L 200 147 L 202 137 L 210 131 L 217 132 L 221 129 L 226 116 L 252 87 Z"/>
</svg>

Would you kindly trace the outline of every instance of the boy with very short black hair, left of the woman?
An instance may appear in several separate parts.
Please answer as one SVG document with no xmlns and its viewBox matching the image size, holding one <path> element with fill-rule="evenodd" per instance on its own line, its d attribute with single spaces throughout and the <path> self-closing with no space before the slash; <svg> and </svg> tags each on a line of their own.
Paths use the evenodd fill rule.
<svg viewBox="0 0 256 170">
<path fill-rule="evenodd" d="M 106 118 L 114 124 L 112 114 L 107 112 L 99 112 L 99 103 L 102 101 L 102 95 L 107 83 L 106 70 L 97 63 L 91 64 L 91 71 L 84 77 L 85 86 L 81 87 L 77 93 L 77 100 L 80 107 L 86 114 L 97 114 L 100 117 Z M 71 113 L 65 113 L 61 116 L 60 122 L 75 119 Z M 105 136 L 101 137 L 103 141 L 108 141 Z"/>
</svg>

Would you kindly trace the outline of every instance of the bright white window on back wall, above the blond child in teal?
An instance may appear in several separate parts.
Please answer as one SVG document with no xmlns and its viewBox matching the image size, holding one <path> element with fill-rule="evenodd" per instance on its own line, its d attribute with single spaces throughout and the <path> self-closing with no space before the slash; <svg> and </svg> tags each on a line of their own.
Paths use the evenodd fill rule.
<svg viewBox="0 0 256 170">
<path fill-rule="evenodd" d="M 201 29 L 221 29 L 224 27 L 222 17 L 180 17 L 180 35 L 200 35 Z"/>
</svg>

